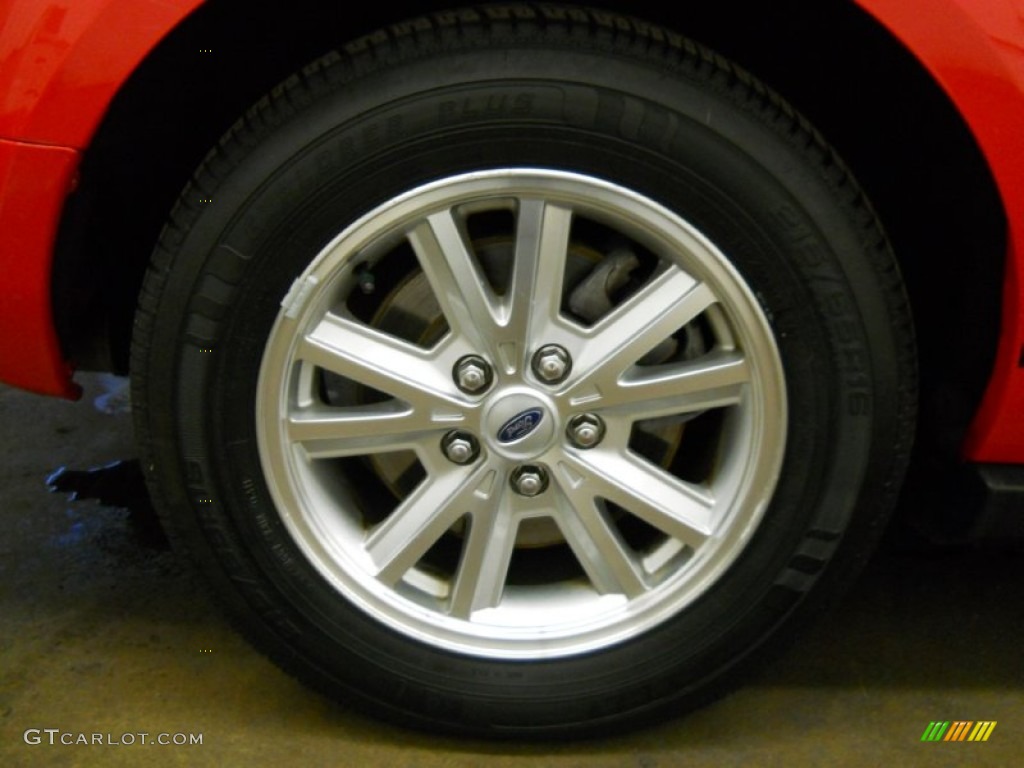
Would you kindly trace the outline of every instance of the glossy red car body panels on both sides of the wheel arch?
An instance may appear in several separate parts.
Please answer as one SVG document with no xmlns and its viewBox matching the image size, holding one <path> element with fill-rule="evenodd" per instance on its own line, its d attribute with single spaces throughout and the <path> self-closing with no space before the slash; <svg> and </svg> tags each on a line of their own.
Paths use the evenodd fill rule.
<svg viewBox="0 0 1024 768">
<path fill-rule="evenodd" d="M 54 245 L 108 109 L 201 0 L 0 3 L 0 380 L 75 397 L 54 323 Z M 1012 0 L 857 0 L 927 69 L 988 164 L 1008 222 L 1001 329 L 963 445 L 970 461 L 1024 464 L 1024 7 Z"/>
</svg>

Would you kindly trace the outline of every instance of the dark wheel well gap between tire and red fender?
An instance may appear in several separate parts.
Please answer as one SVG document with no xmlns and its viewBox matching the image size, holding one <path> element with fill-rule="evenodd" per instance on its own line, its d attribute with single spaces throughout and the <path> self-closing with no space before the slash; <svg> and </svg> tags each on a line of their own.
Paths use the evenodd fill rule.
<svg viewBox="0 0 1024 768">
<path fill-rule="evenodd" d="M 923 421 L 940 430 L 932 441 L 954 451 L 994 358 L 1006 252 L 999 198 L 970 131 L 921 65 L 852 3 L 709 5 L 638 0 L 629 12 L 749 69 L 853 168 L 910 294 Z M 218 0 L 169 35 L 112 103 L 66 211 L 54 305 L 69 356 L 83 368 L 127 369 L 153 244 L 190 173 L 238 116 L 310 59 L 427 6 L 390 2 L 353 14 L 313 0 Z"/>
</svg>

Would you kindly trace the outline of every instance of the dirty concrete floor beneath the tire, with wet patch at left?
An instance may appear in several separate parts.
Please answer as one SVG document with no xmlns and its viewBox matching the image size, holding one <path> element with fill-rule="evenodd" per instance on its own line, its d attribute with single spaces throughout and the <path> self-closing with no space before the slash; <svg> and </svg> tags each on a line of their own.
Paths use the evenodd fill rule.
<svg viewBox="0 0 1024 768">
<path fill-rule="evenodd" d="M 97 381 L 77 404 L 0 388 L 2 766 L 1021 764 L 1024 557 L 992 551 L 883 552 L 745 688 L 625 737 L 485 743 L 367 720 L 253 651 L 125 510 L 47 492 L 61 465 L 134 455 L 128 417 L 90 404 Z M 983 743 L 922 742 L 935 720 L 997 726 Z M 50 745 L 47 728 L 202 745 Z"/>
</svg>

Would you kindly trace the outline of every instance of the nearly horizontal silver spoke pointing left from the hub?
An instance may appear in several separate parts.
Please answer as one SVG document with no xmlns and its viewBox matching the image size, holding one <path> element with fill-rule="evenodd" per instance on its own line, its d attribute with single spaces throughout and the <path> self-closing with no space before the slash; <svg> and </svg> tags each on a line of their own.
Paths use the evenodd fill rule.
<svg viewBox="0 0 1024 768">
<path fill-rule="evenodd" d="M 347 408 L 316 406 L 289 417 L 288 437 L 301 443 L 310 459 L 336 459 L 414 447 L 425 436 L 435 438 L 447 425 L 397 400 Z"/>
</svg>

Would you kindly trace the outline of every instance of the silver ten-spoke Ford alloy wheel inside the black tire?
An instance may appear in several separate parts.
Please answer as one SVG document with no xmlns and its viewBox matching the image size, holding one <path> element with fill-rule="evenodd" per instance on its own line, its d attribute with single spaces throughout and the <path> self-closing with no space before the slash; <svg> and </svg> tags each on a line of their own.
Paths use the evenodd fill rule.
<svg viewBox="0 0 1024 768">
<path fill-rule="evenodd" d="M 496 241 L 504 279 L 482 255 Z M 579 316 L 580 264 L 624 249 L 640 266 Z M 360 308 L 368 270 L 402 251 L 393 291 L 425 281 L 441 316 L 419 337 Z M 532 366 L 553 344 L 571 360 L 556 383 Z M 454 379 L 467 355 L 493 367 L 485 392 Z M 566 434 L 583 413 L 604 426 L 588 449 Z M 435 647 L 536 659 L 640 635 L 721 578 L 771 499 L 786 397 L 768 319 L 693 226 L 594 177 L 502 169 L 412 189 L 312 260 L 267 341 L 256 420 L 282 519 L 341 595 Z M 455 429 L 479 442 L 469 464 L 445 456 Z M 384 476 L 388 456 L 411 483 Z M 549 478 L 535 496 L 510 483 L 526 465 Z M 524 543 L 538 525 L 555 536 Z"/>
</svg>

